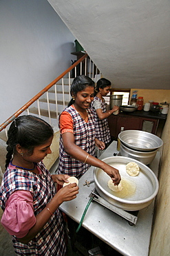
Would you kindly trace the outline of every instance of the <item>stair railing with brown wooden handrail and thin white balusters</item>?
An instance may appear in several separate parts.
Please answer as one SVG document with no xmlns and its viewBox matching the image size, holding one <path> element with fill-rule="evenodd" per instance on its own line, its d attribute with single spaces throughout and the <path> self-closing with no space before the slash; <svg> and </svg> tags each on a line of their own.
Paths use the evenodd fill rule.
<svg viewBox="0 0 170 256">
<path fill-rule="evenodd" d="M 73 72 L 74 71 L 74 72 Z M 43 101 L 45 101 L 45 103 L 47 103 L 47 118 L 49 120 L 49 123 L 51 125 L 51 119 L 54 118 L 56 120 L 58 120 L 59 117 L 59 113 L 61 113 L 61 111 L 58 111 L 58 107 L 59 107 L 59 102 L 63 102 L 62 104 L 62 108 L 65 109 L 65 82 L 64 82 L 64 78 L 67 77 L 69 84 L 68 84 L 68 90 L 67 90 L 67 96 L 69 95 L 69 100 L 70 100 L 70 86 L 71 86 L 71 79 L 74 78 L 71 76 L 71 72 L 72 74 L 74 73 L 74 77 L 76 77 L 76 75 L 88 75 L 89 77 L 91 77 L 92 79 L 95 80 L 95 77 L 97 74 L 100 74 L 100 71 L 98 71 L 98 68 L 96 68 L 94 62 L 92 62 L 92 60 L 88 57 L 87 53 L 85 53 L 85 55 L 83 55 L 83 57 L 81 57 L 79 60 L 77 60 L 74 64 L 72 64 L 72 66 L 70 66 L 70 68 L 67 68 L 66 71 L 64 71 L 61 75 L 59 75 L 59 77 L 56 77 L 56 79 L 54 81 L 52 81 L 50 84 L 48 84 L 43 90 L 41 90 L 39 93 L 37 93 L 31 100 L 29 100 L 26 104 L 23 105 L 23 107 L 21 107 L 21 109 L 19 109 L 17 112 L 15 112 L 12 116 L 10 116 L 10 118 L 8 118 L 5 122 L 3 122 L 3 124 L 0 126 L 0 131 L 2 131 L 3 129 L 6 129 L 6 136 L 7 136 L 7 126 L 15 119 L 17 118 L 19 115 L 21 115 L 21 113 L 23 113 L 23 111 L 27 111 L 28 114 L 30 114 L 30 109 L 29 107 L 32 106 L 32 104 L 34 104 L 34 102 L 36 102 L 37 104 L 37 114 L 38 116 L 41 118 L 41 108 L 40 108 L 40 98 L 42 95 L 44 95 L 44 93 L 46 93 L 46 99 Z M 57 99 L 57 82 L 59 82 L 61 80 L 61 84 L 62 84 L 62 95 L 63 95 L 63 100 L 58 100 Z M 52 88 L 52 86 L 54 86 L 54 100 L 51 100 L 49 98 L 49 90 Z M 50 109 L 50 102 L 55 102 L 55 115 L 54 116 L 54 110 L 51 111 Z M 34 113 L 34 112 L 33 112 Z"/>
</svg>

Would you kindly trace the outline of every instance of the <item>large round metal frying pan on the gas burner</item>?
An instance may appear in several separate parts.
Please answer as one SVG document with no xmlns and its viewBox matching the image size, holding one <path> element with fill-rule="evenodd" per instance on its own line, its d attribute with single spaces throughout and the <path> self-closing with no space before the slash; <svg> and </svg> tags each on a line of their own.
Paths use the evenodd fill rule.
<svg viewBox="0 0 170 256">
<path fill-rule="evenodd" d="M 122 179 L 133 183 L 136 186 L 134 194 L 125 198 L 120 198 L 112 192 L 107 183 L 110 177 L 100 168 L 94 168 L 94 183 L 98 194 L 112 205 L 123 210 L 141 210 L 146 208 L 158 194 L 159 183 L 152 170 L 140 163 L 136 159 L 124 156 L 111 156 L 104 158 L 103 161 L 119 170 Z M 135 162 L 140 167 L 138 176 L 129 176 L 126 172 L 126 165 L 129 162 Z"/>
</svg>

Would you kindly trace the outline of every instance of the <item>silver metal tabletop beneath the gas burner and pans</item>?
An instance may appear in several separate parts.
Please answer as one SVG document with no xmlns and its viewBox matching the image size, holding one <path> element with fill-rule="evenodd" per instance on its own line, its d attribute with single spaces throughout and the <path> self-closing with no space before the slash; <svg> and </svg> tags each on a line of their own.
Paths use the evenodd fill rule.
<svg viewBox="0 0 170 256">
<path fill-rule="evenodd" d="M 100 159 L 118 153 L 116 145 L 116 141 L 111 143 L 100 156 Z M 159 161 L 160 152 L 157 152 L 156 158 L 149 165 L 156 176 L 158 176 Z M 82 214 L 89 201 L 89 194 L 94 190 L 94 183 L 90 184 L 89 187 L 83 185 L 86 180 L 91 181 L 93 179 L 93 170 L 94 167 L 90 167 L 79 180 L 79 193 L 76 199 L 64 202 L 60 206 L 60 209 L 77 223 L 81 221 Z M 154 201 L 147 208 L 138 212 L 136 225 L 130 226 L 126 219 L 93 201 L 85 214 L 82 226 L 122 255 L 148 256 L 153 210 Z"/>
</svg>

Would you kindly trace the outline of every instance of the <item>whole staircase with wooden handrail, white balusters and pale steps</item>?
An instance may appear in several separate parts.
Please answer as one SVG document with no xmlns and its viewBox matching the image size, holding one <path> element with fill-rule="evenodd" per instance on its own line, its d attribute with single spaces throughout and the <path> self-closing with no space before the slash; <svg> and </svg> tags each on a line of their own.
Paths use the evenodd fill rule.
<svg viewBox="0 0 170 256">
<path fill-rule="evenodd" d="M 78 66 L 78 69 L 77 69 Z M 96 71 L 96 73 L 95 73 Z M 83 73 L 85 72 L 85 73 Z M 40 93 L 34 96 L 19 111 L 1 125 L 0 131 L 0 182 L 5 171 L 6 164 L 6 140 L 10 127 L 10 122 L 17 116 L 33 115 L 48 122 L 54 129 L 54 139 L 52 140 L 52 154 L 47 155 L 43 162 L 50 172 L 54 173 L 59 159 L 59 115 L 67 107 L 71 100 L 70 88 L 74 80 L 73 74 L 87 74 L 97 82 L 101 77 L 100 71 L 94 62 L 85 54 L 81 59 L 72 64 L 65 72 L 56 78 L 51 84 L 47 85 Z M 25 109 L 25 110 L 24 110 Z M 38 131 L 37 131 L 38 132 Z"/>
</svg>

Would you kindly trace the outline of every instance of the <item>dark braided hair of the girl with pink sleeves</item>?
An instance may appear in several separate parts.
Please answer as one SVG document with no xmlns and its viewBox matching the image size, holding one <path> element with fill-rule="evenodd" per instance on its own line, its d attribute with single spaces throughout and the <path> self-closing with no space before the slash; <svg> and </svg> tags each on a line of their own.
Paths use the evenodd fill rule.
<svg viewBox="0 0 170 256">
<path fill-rule="evenodd" d="M 52 127 L 36 116 L 19 116 L 10 125 L 8 130 L 8 140 L 6 144 L 6 168 L 8 167 L 12 155 L 16 152 L 16 145 L 28 149 L 30 156 L 34 147 L 46 143 L 54 134 Z"/>
</svg>

